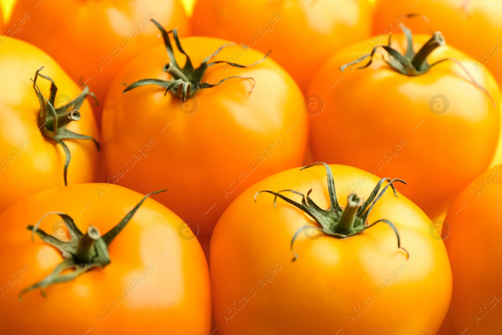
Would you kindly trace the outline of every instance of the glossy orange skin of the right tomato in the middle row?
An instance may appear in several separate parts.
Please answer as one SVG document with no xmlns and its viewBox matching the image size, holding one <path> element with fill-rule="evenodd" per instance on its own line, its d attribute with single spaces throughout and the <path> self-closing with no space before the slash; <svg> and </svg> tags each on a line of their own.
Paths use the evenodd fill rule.
<svg viewBox="0 0 502 335">
<path fill-rule="evenodd" d="M 414 38 L 417 51 L 430 36 Z M 392 40 L 393 47 L 406 50 L 402 34 Z M 403 193 L 435 218 L 492 160 L 500 128 L 500 91 L 486 68 L 472 72 L 492 101 L 453 61 L 411 77 L 394 71 L 376 54 L 367 68 L 339 70 L 376 44 L 372 39 L 345 49 L 313 78 L 309 94 L 317 94 L 324 104 L 321 113 L 310 116 L 313 157 L 399 176 L 408 182 Z M 472 62 L 446 45 L 432 52 L 429 63 L 448 57 L 465 66 Z"/>
</svg>

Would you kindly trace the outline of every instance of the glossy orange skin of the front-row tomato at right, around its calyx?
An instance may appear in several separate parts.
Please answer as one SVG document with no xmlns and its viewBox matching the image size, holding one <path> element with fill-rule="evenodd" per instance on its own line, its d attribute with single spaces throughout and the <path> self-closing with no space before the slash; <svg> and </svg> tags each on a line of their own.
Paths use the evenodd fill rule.
<svg viewBox="0 0 502 335">
<path fill-rule="evenodd" d="M 342 206 L 353 191 L 367 198 L 379 180 L 356 168 L 330 167 Z M 312 218 L 281 199 L 274 208 L 271 194 L 259 194 L 257 202 L 253 198 L 261 190 L 306 194 L 311 188 L 314 202 L 328 208 L 321 166 L 271 176 L 240 194 L 221 216 L 210 255 L 220 334 L 333 334 L 343 328 L 347 334 L 434 335 L 450 302 L 451 270 L 443 242 L 428 234 L 431 222 L 425 213 L 389 190 L 369 214 L 369 222 L 394 222 L 408 261 L 393 231 L 378 224 L 345 240 L 305 230 L 295 242 L 298 259 L 292 262 L 291 239 Z M 376 295 L 373 290 L 381 284 L 388 287 Z"/>
</svg>

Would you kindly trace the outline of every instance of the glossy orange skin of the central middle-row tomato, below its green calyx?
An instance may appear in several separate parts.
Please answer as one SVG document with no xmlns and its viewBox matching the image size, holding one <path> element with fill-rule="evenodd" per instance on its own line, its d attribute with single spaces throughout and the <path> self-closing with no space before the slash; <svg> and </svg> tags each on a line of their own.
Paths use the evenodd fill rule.
<svg viewBox="0 0 502 335">
<path fill-rule="evenodd" d="M 190 37 L 181 45 L 194 66 L 228 41 Z M 224 48 L 214 60 L 242 50 Z M 240 64 L 263 54 L 244 52 Z M 183 64 L 183 56 L 175 53 Z M 226 206 L 244 189 L 278 171 L 301 164 L 307 141 L 303 95 L 293 79 L 272 60 L 248 68 L 210 67 L 203 81 L 219 86 L 201 89 L 180 102 L 160 86 L 141 86 L 123 94 L 122 82 L 170 77 L 162 71 L 165 47 L 141 55 L 114 79 L 103 113 L 103 143 L 111 182 L 131 189 L 167 188 L 157 195 L 183 219 L 210 234 Z M 155 69 L 155 71 L 154 71 Z"/>
</svg>

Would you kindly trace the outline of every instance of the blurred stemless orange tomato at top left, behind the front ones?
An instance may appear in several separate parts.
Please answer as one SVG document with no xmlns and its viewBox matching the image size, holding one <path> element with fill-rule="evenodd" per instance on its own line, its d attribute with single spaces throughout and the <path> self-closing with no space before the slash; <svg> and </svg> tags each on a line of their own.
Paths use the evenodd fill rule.
<svg viewBox="0 0 502 335">
<path fill-rule="evenodd" d="M 17 2 L 11 21 L 25 13 L 30 18 L 15 37 L 54 57 L 75 82 L 93 87 L 101 103 L 94 107 L 99 125 L 102 102 L 115 74 L 159 43 L 150 19 L 166 29 L 177 27 L 181 36 L 190 35 L 179 0 L 26 0 Z"/>
</svg>

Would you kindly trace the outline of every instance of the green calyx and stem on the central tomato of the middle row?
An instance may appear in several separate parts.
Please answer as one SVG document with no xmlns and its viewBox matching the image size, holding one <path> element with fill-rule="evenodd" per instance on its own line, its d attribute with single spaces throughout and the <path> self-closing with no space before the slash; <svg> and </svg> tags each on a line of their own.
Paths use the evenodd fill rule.
<svg viewBox="0 0 502 335">
<path fill-rule="evenodd" d="M 228 43 L 228 44 L 224 44 L 224 45 L 220 46 L 214 53 L 207 56 L 202 61 L 202 63 L 200 64 L 199 67 L 194 68 L 192 65 L 192 61 L 190 60 L 190 56 L 188 56 L 188 54 L 185 52 L 185 50 L 183 50 L 183 48 L 181 46 L 180 39 L 178 37 L 178 30 L 175 28 L 174 30 L 166 31 L 164 29 L 164 27 L 162 27 L 157 21 L 155 21 L 155 20 L 151 20 L 151 21 L 161 31 L 162 37 L 164 38 L 164 45 L 166 46 L 167 54 L 169 56 L 169 62 L 167 62 L 166 65 L 164 65 L 163 71 L 169 73 L 173 77 L 173 79 L 172 80 L 162 80 L 162 79 L 153 79 L 153 78 L 141 79 L 141 80 L 138 80 L 138 81 L 132 83 L 131 85 L 127 86 L 123 90 L 124 93 L 126 93 L 127 91 L 129 91 L 133 88 L 143 86 L 143 85 L 159 85 L 161 87 L 166 88 L 166 92 L 164 93 L 164 95 L 166 95 L 168 91 L 172 91 L 173 94 L 175 94 L 176 96 L 179 96 L 181 98 L 181 101 L 185 101 L 186 98 L 189 98 L 189 97 L 195 95 L 199 89 L 218 86 L 219 84 L 221 84 L 231 78 L 242 78 L 242 79 L 253 80 L 253 87 L 251 89 L 251 91 L 253 91 L 253 88 L 255 87 L 255 79 L 250 78 L 250 77 L 229 76 L 227 78 L 221 79 L 219 82 L 217 82 L 215 84 L 211 84 L 208 82 L 201 82 L 201 81 L 202 81 L 202 77 L 204 76 L 207 68 L 210 66 L 220 64 L 220 63 L 225 63 L 225 64 L 235 66 L 235 67 L 241 67 L 241 68 L 242 67 L 249 67 L 249 66 L 253 66 L 253 65 L 256 65 L 256 64 L 263 62 L 267 58 L 267 56 L 270 54 L 270 51 L 267 53 L 267 55 L 265 55 L 265 57 L 263 59 L 255 62 L 253 64 L 250 64 L 250 65 L 241 65 L 241 64 L 237 64 L 237 63 L 227 62 L 224 60 L 209 62 L 209 60 L 211 58 L 213 58 L 214 56 L 216 56 L 221 51 L 221 49 L 223 49 L 224 47 L 227 47 L 230 45 L 237 45 L 236 43 Z M 169 39 L 170 33 L 173 34 L 173 38 L 174 38 L 174 41 L 176 43 L 176 47 L 178 48 L 179 52 L 181 52 L 183 55 L 185 55 L 186 62 L 185 62 L 185 66 L 183 68 L 178 65 L 178 62 L 176 61 L 176 58 L 174 57 L 173 46 L 171 44 L 171 40 Z M 242 45 L 242 46 L 247 47 L 245 45 Z M 249 48 L 249 47 L 247 47 L 247 48 Z"/>
</svg>

